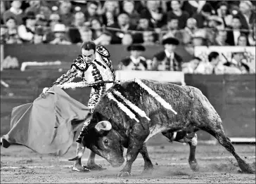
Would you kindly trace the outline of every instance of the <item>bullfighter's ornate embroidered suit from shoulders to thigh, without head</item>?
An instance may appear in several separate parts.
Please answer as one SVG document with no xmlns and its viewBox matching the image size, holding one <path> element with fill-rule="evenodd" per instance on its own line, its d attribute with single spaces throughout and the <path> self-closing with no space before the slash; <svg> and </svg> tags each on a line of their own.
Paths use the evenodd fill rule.
<svg viewBox="0 0 256 184">
<path fill-rule="evenodd" d="M 103 46 L 96 47 L 96 58 L 91 63 L 84 62 L 82 55 L 73 61 L 71 69 L 58 78 L 51 86 L 69 83 L 79 77 L 82 81 L 98 82 L 98 81 L 114 81 L 115 74 L 110 58 L 110 53 Z M 113 84 L 98 84 L 91 88 L 91 94 L 88 107 L 93 109 L 98 100 L 105 93 L 107 88 Z"/>
</svg>

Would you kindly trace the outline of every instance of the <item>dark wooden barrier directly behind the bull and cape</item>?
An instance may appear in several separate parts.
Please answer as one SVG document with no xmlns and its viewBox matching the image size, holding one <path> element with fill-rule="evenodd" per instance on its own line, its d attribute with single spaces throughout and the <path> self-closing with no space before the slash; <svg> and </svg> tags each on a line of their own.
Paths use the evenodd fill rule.
<svg viewBox="0 0 256 184">
<path fill-rule="evenodd" d="M 31 103 L 42 89 L 49 86 L 65 71 L 4 70 L 1 79 L 9 85 L 1 86 L 1 136 L 10 129 L 13 107 Z M 222 117 L 226 135 L 234 138 L 255 138 L 255 75 L 198 75 L 185 74 L 188 86 L 199 88 Z M 72 98 L 87 105 L 90 88 L 65 90 Z M 212 136 L 198 132 L 200 140 Z M 162 138 L 164 139 L 164 138 Z"/>
</svg>

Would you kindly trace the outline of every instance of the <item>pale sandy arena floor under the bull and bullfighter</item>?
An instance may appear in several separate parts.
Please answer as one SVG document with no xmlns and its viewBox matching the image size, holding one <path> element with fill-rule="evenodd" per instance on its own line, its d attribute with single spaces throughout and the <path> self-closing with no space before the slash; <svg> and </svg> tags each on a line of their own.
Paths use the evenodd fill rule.
<svg viewBox="0 0 256 184">
<path fill-rule="evenodd" d="M 235 145 L 241 157 L 255 169 L 255 145 Z M 75 144 L 64 157 L 38 155 L 24 146 L 1 147 L 1 183 L 255 183 L 255 174 L 240 173 L 236 160 L 221 145 L 198 145 L 196 159 L 200 166 L 193 172 L 188 165 L 188 145 L 173 143 L 148 146 L 154 164 L 150 174 L 141 175 L 143 159 L 139 155 L 132 166 L 132 176 L 118 178 L 122 169 L 113 168 L 105 159 L 96 163 L 105 171 L 71 171 Z M 89 151 L 82 163 L 86 164 Z"/>
</svg>

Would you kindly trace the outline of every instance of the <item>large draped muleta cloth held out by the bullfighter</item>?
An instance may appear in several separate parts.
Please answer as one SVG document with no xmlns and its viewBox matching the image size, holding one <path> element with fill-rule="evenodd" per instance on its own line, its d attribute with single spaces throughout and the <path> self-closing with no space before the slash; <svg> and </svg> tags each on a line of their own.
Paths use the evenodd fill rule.
<svg viewBox="0 0 256 184">
<path fill-rule="evenodd" d="M 53 86 L 33 103 L 13 108 L 11 130 L 3 138 L 39 154 L 62 156 L 75 140 L 75 131 L 89 119 L 87 106 Z"/>
</svg>

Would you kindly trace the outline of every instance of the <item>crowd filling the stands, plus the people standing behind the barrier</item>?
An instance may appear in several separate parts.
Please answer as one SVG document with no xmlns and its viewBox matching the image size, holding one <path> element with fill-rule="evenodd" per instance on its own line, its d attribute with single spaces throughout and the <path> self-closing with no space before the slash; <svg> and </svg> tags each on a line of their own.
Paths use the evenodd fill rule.
<svg viewBox="0 0 256 184">
<path fill-rule="evenodd" d="M 207 56 L 207 66 L 196 57 L 181 65 L 174 49 L 179 44 L 255 46 L 255 1 L 1 1 L 0 12 L 1 44 L 68 45 L 91 39 L 101 45 L 123 44 L 129 46 L 131 61 L 142 63 L 140 70 L 217 74 L 226 71 L 220 69 L 217 53 Z M 155 44 L 163 44 L 165 51 L 147 64 L 138 52 Z M 232 53 L 222 66 L 243 59 L 241 53 Z M 171 64 L 160 64 L 163 60 Z M 120 68 L 127 66 L 132 67 L 126 58 Z M 249 72 L 240 64 L 239 70 Z"/>
</svg>

